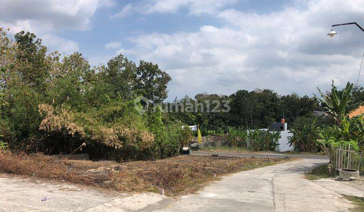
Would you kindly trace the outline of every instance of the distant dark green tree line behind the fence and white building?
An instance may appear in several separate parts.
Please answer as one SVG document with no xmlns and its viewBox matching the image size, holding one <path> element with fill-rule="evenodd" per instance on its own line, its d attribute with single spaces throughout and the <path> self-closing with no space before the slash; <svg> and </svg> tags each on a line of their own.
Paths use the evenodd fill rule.
<svg viewBox="0 0 364 212">
<path fill-rule="evenodd" d="M 339 95 L 342 90 L 339 90 Z M 330 92 L 326 93 L 331 95 Z M 359 104 L 364 102 L 364 89 L 357 87 L 352 90 L 354 96 L 353 105 L 348 110 L 353 110 Z M 225 109 L 222 103 L 228 100 L 230 111 L 223 112 Z M 217 100 L 217 101 L 216 101 Z M 209 102 L 209 107 L 206 105 Z M 182 99 L 167 102 L 166 104 L 192 104 L 204 105 L 201 110 L 200 105 L 193 108 L 193 112 L 186 113 L 180 110 L 172 110 L 168 113 L 168 118 L 172 120 L 180 120 L 189 125 L 199 124 L 202 135 L 226 133 L 230 127 L 240 127 L 242 129 L 261 129 L 268 128 L 270 123 L 281 122 L 285 119 L 289 129 L 302 129 L 303 126 L 315 123 L 315 125 L 333 124 L 334 120 L 328 116 L 316 117 L 313 111 L 323 111 L 325 103 L 321 103 L 316 96 L 308 97 L 306 95 L 299 96 L 296 93 L 289 95 L 280 95 L 270 89 L 255 89 L 253 91 L 238 90 L 231 95 L 218 95 L 201 93 L 195 95 L 194 98 L 185 96 Z M 216 106 L 218 106 L 216 108 Z M 186 109 L 188 106 L 185 106 Z M 180 109 L 181 107 L 178 107 Z M 209 110 L 206 110 L 209 109 Z M 218 109 L 220 112 L 213 112 Z"/>
</svg>

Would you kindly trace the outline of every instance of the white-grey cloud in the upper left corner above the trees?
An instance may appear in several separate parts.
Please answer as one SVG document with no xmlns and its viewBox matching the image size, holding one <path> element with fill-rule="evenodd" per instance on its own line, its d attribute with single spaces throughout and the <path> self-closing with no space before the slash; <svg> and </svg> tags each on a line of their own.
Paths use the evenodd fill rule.
<svg viewBox="0 0 364 212">
<path fill-rule="evenodd" d="M 51 50 L 70 54 L 79 50 L 75 41 L 59 37 L 65 30 L 89 30 L 90 18 L 100 7 L 112 7 L 114 0 L 2 0 L 1 27 L 35 33 Z"/>
</svg>

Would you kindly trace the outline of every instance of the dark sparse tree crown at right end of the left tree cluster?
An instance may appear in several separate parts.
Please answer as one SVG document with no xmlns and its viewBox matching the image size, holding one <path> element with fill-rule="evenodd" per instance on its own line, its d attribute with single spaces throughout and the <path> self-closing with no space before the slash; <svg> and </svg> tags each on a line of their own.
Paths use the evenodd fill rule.
<svg viewBox="0 0 364 212">
<path fill-rule="evenodd" d="M 138 93 L 156 103 L 162 102 L 167 97 L 167 84 L 172 78 L 160 70 L 157 64 L 140 61 L 136 74 Z"/>
</svg>

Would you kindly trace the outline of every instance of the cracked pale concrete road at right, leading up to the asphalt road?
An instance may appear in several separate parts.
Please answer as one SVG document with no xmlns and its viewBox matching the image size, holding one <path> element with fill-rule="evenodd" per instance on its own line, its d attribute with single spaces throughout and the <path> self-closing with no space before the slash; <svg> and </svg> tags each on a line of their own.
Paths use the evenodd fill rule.
<svg viewBox="0 0 364 212">
<path fill-rule="evenodd" d="M 197 194 L 160 211 L 347 211 L 353 205 L 335 191 L 302 178 L 327 159 L 304 159 L 222 177 Z"/>
</svg>

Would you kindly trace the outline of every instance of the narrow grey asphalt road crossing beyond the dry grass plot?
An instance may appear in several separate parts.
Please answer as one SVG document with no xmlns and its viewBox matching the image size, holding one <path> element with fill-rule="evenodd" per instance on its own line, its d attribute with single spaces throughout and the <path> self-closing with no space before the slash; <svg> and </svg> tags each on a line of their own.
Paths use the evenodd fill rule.
<svg viewBox="0 0 364 212">
<path fill-rule="evenodd" d="M 191 151 L 192 155 L 211 155 L 218 154 L 221 156 L 233 156 L 233 157 L 270 157 L 270 158 L 283 158 L 283 157 L 293 157 L 292 154 L 280 154 L 280 153 L 228 153 L 228 152 L 214 152 L 214 151 Z M 306 155 L 306 154 L 296 154 L 294 157 L 305 158 L 305 159 L 328 159 L 326 155 Z"/>
</svg>

